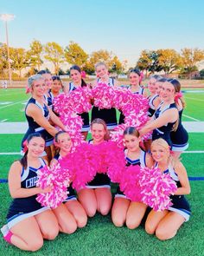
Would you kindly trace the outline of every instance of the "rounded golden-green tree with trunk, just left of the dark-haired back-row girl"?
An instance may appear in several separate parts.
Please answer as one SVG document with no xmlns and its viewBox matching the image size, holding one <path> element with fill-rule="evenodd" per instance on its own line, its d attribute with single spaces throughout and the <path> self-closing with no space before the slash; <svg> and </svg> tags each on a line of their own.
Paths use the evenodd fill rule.
<svg viewBox="0 0 204 256">
<path fill-rule="evenodd" d="M 64 49 L 58 43 L 46 43 L 44 47 L 44 57 L 54 64 L 54 73 L 58 74 L 60 65 L 64 62 Z"/>
</svg>

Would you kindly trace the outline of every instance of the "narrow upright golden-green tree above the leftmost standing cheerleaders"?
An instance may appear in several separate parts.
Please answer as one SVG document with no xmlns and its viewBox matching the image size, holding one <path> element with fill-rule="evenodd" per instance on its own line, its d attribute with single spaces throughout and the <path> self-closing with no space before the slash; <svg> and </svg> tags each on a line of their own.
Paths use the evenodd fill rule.
<svg viewBox="0 0 204 256">
<path fill-rule="evenodd" d="M 42 44 L 40 41 L 35 40 L 30 43 L 29 47 L 29 64 L 33 69 L 38 69 L 39 71 L 41 69 L 41 64 L 43 63 L 41 60 L 41 54 L 43 49 Z"/>
</svg>

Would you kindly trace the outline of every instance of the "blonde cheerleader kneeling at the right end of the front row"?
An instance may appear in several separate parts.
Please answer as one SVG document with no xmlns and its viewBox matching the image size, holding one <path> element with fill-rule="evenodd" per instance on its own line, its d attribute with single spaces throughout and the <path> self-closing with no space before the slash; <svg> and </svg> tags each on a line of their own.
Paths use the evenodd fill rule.
<svg viewBox="0 0 204 256">
<path fill-rule="evenodd" d="M 172 206 L 162 212 L 151 210 L 145 223 L 149 234 L 156 233 L 159 240 L 169 240 L 175 236 L 180 226 L 188 221 L 191 214 L 188 200 L 184 194 L 190 193 L 188 175 L 182 162 L 170 155 L 169 145 L 163 139 L 153 141 L 151 154 L 157 167 L 163 174 L 170 174 L 177 185 L 174 195 L 171 195 Z"/>
</svg>

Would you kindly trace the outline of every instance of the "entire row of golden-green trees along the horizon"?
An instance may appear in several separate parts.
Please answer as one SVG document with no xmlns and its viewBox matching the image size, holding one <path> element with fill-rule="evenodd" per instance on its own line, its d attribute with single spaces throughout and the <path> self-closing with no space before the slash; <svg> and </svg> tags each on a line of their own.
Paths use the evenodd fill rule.
<svg viewBox="0 0 204 256">
<path fill-rule="evenodd" d="M 192 71 L 198 70 L 196 65 L 202 60 L 204 60 L 203 49 L 185 48 L 181 49 L 181 52 L 177 52 L 175 49 L 145 49 L 141 52 L 135 66 L 143 70 L 146 75 L 159 71 L 163 71 L 166 75 L 175 71 L 180 74 L 190 74 Z M 49 42 L 42 45 L 38 40 L 30 43 L 28 50 L 10 47 L 10 67 L 13 75 L 22 77 L 24 68 L 29 68 L 26 76 L 33 75 L 41 69 L 41 65 L 45 61 L 53 64 L 54 73 L 58 75 L 68 75 L 68 70 L 61 69 L 62 63 L 77 64 L 89 75 L 94 74 L 96 62 L 105 62 L 111 73 L 121 74 L 127 70 L 127 61 L 121 62 L 112 51 L 100 49 L 88 55 L 78 43 L 74 42 L 70 42 L 65 49 L 58 43 Z M 0 75 L 6 76 L 7 73 L 7 45 L 1 43 Z"/>
</svg>

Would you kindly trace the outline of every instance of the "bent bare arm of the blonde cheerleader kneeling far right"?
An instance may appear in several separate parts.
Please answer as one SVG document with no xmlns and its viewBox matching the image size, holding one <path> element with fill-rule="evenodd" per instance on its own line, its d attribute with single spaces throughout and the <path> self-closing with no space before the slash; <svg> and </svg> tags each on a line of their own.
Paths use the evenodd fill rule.
<svg viewBox="0 0 204 256">
<path fill-rule="evenodd" d="M 179 162 L 175 166 L 175 173 L 178 175 L 179 181 L 182 187 L 178 187 L 175 194 L 190 194 L 190 184 L 188 181 L 188 174 L 186 168 L 182 165 L 182 162 Z"/>
</svg>

